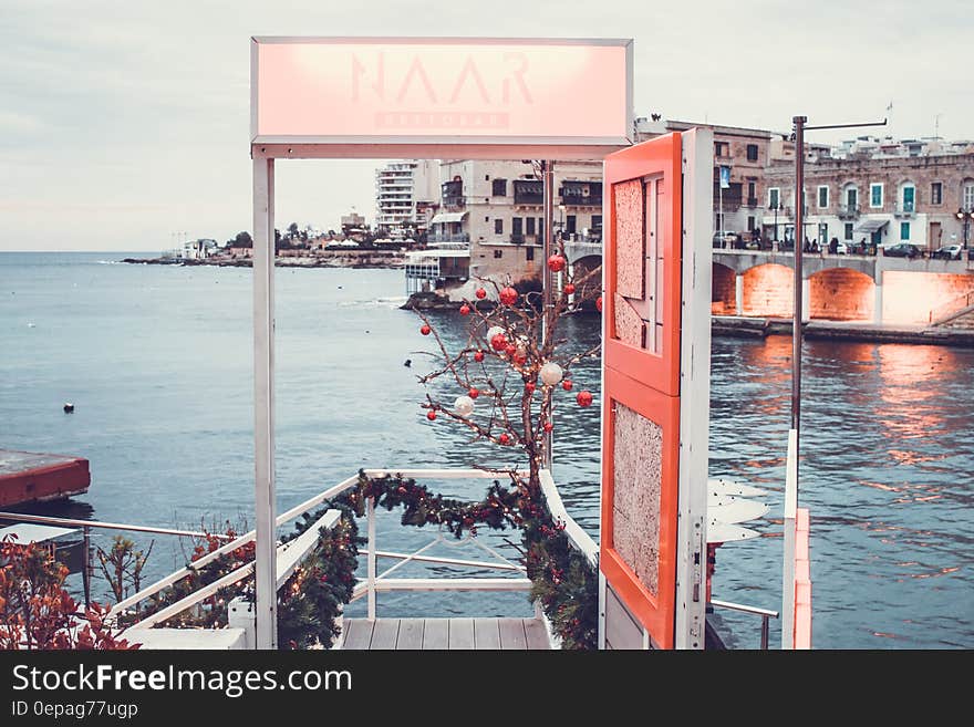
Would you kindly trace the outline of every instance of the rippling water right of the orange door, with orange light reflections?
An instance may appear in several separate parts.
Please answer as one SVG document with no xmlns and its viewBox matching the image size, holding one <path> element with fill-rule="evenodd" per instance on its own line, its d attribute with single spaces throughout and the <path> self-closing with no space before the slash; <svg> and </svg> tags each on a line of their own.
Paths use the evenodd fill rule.
<svg viewBox="0 0 974 727">
<path fill-rule="evenodd" d="M 715 339 L 713 356 L 711 474 L 768 482 L 771 516 L 785 476 L 771 453 L 785 451 L 790 414 L 783 343 L 790 354 L 788 337 Z M 974 352 L 810 341 L 802 364 L 799 499 L 811 510 L 815 645 L 974 645 Z M 742 417 L 753 404 L 737 399 L 755 393 L 780 406 Z M 723 548 L 715 598 L 748 589 L 742 599 L 776 607 L 780 583 L 763 568 L 780 568 L 778 542 Z M 737 614 L 724 621 L 737 636 L 754 630 Z"/>
</svg>

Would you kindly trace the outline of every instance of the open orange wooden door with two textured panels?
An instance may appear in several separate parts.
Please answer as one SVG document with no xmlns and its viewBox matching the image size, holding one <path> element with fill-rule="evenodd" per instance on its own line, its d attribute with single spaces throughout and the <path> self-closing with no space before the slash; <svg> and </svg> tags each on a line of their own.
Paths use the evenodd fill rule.
<svg viewBox="0 0 974 727">
<path fill-rule="evenodd" d="M 601 569 L 655 646 L 674 644 L 681 137 L 605 158 Z"/>
</svg>

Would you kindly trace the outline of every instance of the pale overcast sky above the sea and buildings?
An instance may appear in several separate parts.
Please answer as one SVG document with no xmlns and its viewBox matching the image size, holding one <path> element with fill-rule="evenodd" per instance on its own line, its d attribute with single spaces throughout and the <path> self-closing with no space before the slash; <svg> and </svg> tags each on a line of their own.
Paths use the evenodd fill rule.
<svg viewBox="0 0 974 727">
<path fill-rule="evenodd" d="M 788 131 L 892 102 L 873 133 L 932 136 L 940 114 L 942 136 L 971 138 L 971 18 L 962 0 L 3 0 L 0 250 L 249 229 L 251 35 L 633 38 L 636 116 Z M 375 164 L 279 164 L 278 227 L 371 220 Z"/>
</svg>

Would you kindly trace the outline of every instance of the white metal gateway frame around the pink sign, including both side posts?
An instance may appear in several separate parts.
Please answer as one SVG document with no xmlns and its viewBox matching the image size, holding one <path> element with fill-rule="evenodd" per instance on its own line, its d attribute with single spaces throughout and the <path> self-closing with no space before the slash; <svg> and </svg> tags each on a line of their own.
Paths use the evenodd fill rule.
<svg viewBox="0 0 974 727">
<path fill-rule="evenodd" d="M 252 44 L 251 72 L 251 158 L 253 179 L 253 394 L 255 394 L 255 506 L 256 506 L 256 571 L 257 604 L 256 644 L 258 648 L 277 648 L 277 573 L 276 573 L 276 481 L 274 481 L 274 162 L 279 158 L 473 158 L 473 159 L 601 159 L 607 154 L 631 144 L 628 137 L 260 137 L 257 135 L 257 45 L 260 42 L 485 42 L 485 39 L 258 39 Z M 486 42 L 531 44 L 610 44 L 625 49 L 626 104 L 625 128 L 632 125 L 632 41 L 631 40 L 531 40 L 486 39 Z M 691 412 L 704 416 L 702 426 L 682 429 L 682 439 L 688 446 L 681 457 L 681 480 L 703 482 L 693 492 L 681 486 L 681 528 L 678 543 L 677 577 L 677 646 L 702 647 L 703 605 L 698 601 L 700 544 L 706 541 L 705 523 L 694 526 L 693 513 L 703 520 L 706 512 L 706 430 L 707 430 L 707 374 L 709 364 L 709 285 L 702 285 L 703 266 L 709 277 L 709 259 L 695 240 L 707 242 L 709 218 L 709 167 L 705 154 L 698 152 L 706 142 L 702 133 L 693 149 L 684 147 L 685 164 L 693 169 L 692 178 L 698 179 L 684 197 L 685 247 L 694 250 L 692 264 L 684 271 L 685 290 L 693 290 L 693 300 L 684 300 L 684 315 L 693 312 L 696 324 L 692 328 L 693 341 L 686 346 L 682 365 L 687 366 L 690 380 L 684 380 L 684 392 L 694 391 Z M 695 150 L 694 150 L 695 149 Z M 690 170 L 690 169 L 687 169 Z M 695 197 L 698 199 L 694 201 Z M 706 202 L 706 204 L 705 204 Z M 687 281 L 692 284 L 687 287 Z M 704 292 L 707 300 L 701 298 Z M 697 294 L 698 293 L 698 294 Z M 697 300 L 700 298 L 700 300 Z M 702 310 L 706 302 L 707 310 Z M 705 314 L 706 313 L 706 314 Z M 697 320 L 700 319 L 700 320 Z M 703 386 L 704 388 L 698 388 Z M 691 459 L 691 455 L 693 458 Z M 695 461 L 694 461 L 695 460 Z M 693 471 L 691 471 L 693 470 Z M 702 472 L 702 477 L 701 477 Z M 688 487 L 688 486 L 687 486 Z M 697 491 L 700 490 L 700 491 Z M 697 501 L 700 500 L 700 502 Z M 702 502 L 702 505 L 701 505 Z M 697 557 L 694 557 L 697 553 Z M 694 596 L 697 593 L 697 596 Z M 698 606 L 698 607 L 697 607 Z M 681 632 L 685 632 L 681 636 Z"/>
</svg>

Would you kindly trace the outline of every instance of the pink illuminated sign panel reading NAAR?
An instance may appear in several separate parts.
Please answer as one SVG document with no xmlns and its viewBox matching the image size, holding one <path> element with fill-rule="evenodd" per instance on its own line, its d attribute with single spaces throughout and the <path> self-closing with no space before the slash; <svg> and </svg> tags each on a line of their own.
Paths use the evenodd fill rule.
<svg viewBox="0 0 974 727">
<path fill-rule="evenodd" d="M 626 144 L 631 89 L 629 40 L 256 38 L 251 137 Z"/>
</svg>

